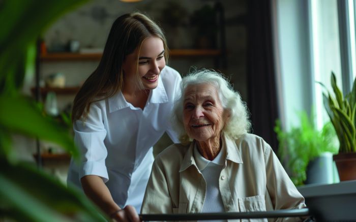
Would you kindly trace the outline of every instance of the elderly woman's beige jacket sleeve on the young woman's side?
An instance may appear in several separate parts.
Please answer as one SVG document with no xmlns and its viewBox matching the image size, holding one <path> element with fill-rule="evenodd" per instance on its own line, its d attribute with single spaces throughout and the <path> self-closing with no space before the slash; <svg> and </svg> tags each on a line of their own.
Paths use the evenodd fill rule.
<svg viewBox="0 0 356 222">
<path fill-rule="evenodd" d="M 172 213 L 166 171 L 160 158 L 156 158 L 143 198 L 141 213 Z"/>
</svg>

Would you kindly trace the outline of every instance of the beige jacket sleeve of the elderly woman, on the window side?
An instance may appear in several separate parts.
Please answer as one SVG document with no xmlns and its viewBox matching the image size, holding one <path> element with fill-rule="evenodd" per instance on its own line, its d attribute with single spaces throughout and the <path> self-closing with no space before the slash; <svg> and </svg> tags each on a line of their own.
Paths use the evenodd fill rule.
<svg viewBox="0 0 356 222">
<path fill-rule="evenodd" d="M 274 210 L 306 207 L 304 197 L 290 180 L 269 144 L 264 143 L 266 186 Z M 302 221 L 301 218 L 278 218 L 277 221 Z"/>
</svg>

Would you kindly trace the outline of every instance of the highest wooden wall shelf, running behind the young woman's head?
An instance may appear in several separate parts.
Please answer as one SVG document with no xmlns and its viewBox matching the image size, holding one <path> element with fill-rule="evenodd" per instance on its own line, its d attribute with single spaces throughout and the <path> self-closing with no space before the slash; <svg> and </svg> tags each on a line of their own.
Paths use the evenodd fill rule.
<svg viewBox="0 0 356 222">
<path fill-rule="evenodd" d="M 71 53 L 58 52 L 46 53 L 40 56 L 42 61 L 65 61 L 65 60 L 100 60 L 102 53 Z M 215 57 L 220 56 L 221 50 L 217 49 L 171 49 L 171 57 Z"/>
</svg>

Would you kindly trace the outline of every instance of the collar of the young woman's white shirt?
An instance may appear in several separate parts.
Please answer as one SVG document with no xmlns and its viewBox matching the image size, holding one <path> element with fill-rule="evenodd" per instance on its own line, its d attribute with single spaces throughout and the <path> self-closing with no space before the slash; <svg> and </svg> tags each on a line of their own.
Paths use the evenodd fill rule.
<svg viewBox="0 0 356 222">
<path fill-rule="evenodd" d="M 162 75 L 162 72 L 161 72 Z M 167 92 L 166 89 L 164 88 L 161 75 L 158 78 L 158 85 L 155 89 L 152 89 L 149 94 L 149 99 L 148 103 L 167 103 L 168 102 L 168 97 L 167 97 Z M 109 112 L 112 113 L 114 111 L 124 109 L 127 107 L 134 108 L 130 103 L 128 103 L 122 91 L 117 92 L 114 94 L 112 97 L 108 98 L 108 106 L 109 106 Z"/>
</svg>

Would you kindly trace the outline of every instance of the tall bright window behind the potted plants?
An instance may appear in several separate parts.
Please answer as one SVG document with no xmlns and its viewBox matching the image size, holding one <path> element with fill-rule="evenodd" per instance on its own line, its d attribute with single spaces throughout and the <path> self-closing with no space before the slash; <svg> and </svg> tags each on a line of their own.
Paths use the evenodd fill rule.
<svg viewBox="0 0 356 222">
<path fill-rule="evenodd" d="M 314 109 L 320 129 L 329 116 L 316 82 L 332 90 L 333 71 L 345 93 L 356 78 L 356 0 L 275 0 L 274 7 L 282 123 L 288 130 L 299 124 L 299 111 Z"/>
</svg>

